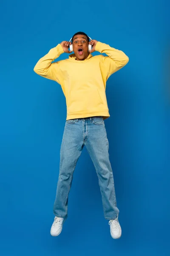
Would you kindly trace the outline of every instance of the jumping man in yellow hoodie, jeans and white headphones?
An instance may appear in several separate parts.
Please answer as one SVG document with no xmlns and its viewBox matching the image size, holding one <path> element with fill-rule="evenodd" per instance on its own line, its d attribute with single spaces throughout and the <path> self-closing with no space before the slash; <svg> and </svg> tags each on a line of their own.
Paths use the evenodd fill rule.
<svg viewBox="0 0 170 256">
<path fill-rule="evenodd" d="M 51 63 L 63 52 L 71 53 L 71 44 L 74 54 L 65 60 Z M 93 56 L 91 53 L 94 51 L 106 53 L 107 56 Z M 109 76 L 124 67 L 128 61 L 124 52 L 96 40 L 90 41 L 84 32 L 77 32 L 72 43 L 62 41 L 40 58 L 34 67 L 38 75 L 61 85 L 67 105 L 51 236 L 61 233 L 68 216 L 68 194 L 84 145 L 99 178 L 104 216 L 109 221 L 111 236 L 119 239 L 122 234 L 104 122 L 110 116 L 105 89 Z"/>
</svg>

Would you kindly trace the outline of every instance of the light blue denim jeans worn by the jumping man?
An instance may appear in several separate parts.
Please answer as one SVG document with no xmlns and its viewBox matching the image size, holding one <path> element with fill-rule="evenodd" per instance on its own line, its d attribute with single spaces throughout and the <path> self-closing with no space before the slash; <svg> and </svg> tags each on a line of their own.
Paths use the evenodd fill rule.
<svg viewBox="0 0 170 256">
<path fill-rule="evenodd" d="M 65 122 L 54 215 L 62 218 L 68 216 L 68 194 L 84 145 L 99 179 L 104 217 L 107 220 L 115 219 L 119 215 L 119 209 L 116 206 L 113 172 L 108 153 L 109 143 L 102 116 L 70 119 Z"/>
</svg>

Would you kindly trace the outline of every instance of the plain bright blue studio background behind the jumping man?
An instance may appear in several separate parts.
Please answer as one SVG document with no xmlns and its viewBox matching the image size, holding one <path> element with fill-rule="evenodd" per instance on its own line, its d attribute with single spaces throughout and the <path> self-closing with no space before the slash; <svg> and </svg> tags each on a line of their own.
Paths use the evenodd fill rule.
<svg viewBox="0 0 170 256">
<path fill-rule="evenodd" d="M 0 255 L 170 255 L 168 9 L 158 0 L 0 2 Z M 79 30 L 129 57 L 106 87 L 119 240 L 111 238 L 86 148 L 67 222 L 60 236 L 50 235 L 66 105 L 60 85 L 33 69 Z"/>
</svg>

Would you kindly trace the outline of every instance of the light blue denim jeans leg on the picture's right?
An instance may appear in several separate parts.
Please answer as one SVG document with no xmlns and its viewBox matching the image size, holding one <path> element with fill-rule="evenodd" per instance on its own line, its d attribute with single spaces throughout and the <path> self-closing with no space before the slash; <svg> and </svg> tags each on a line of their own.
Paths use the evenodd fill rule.
<svg viewBox="0 0 170 256">
<path fill-rule="evenodd" d="M 94 119 L 94 122 L 88 123 L 88 137 L 85 141 L 85 146 L 94 163 L 99 179 L 105 219 L 115 219 L 119 215 L 119 209 L 116 205 L 115 187 L 109 160 L 109 143 L 105 122 L 101 118 L 96 118 Z"/>
</svg>

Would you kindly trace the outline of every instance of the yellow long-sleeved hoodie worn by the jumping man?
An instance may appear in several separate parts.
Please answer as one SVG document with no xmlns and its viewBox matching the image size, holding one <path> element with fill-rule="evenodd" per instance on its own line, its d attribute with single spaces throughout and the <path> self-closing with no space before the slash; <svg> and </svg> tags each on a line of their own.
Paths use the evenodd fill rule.
<svg viewBox="0 0 170 256">
<path fill-rule="evenodd" d="M 96 51 L 108 56 L 91 54 L 84 61 L 77 61 L 75 54 L 68 59 L 53 62 L 64 50 L 58 44 L 34 67 L 35 73 L 59 83 L 65 95 L 68 119 L 110 114 L 105 94 L 106 81 L 111 74 L 124 67 L 129 58 L 124 52 L 97 42 Z"/>
</svg>

